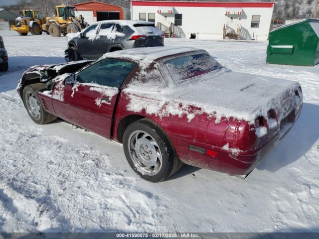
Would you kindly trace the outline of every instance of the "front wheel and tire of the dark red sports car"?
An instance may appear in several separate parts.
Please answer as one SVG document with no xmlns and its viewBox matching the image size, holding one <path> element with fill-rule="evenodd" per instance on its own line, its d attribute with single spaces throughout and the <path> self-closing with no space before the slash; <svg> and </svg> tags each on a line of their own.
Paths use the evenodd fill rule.
<svg viewBox="0 0 319 239">
<path fill-rule="evenodd" d="M 23 104 L 29 114 L 30 118 L 37 124 L 45 124 L 56 119 L 56 116 L 53 116 L 47 113 L 41 104 L 41 101 L 38 97 L 38 93 L 46 90 L 47 88 L 43 83 L 36 83 L 26 86 L 23 89 Z"/>
</svg>

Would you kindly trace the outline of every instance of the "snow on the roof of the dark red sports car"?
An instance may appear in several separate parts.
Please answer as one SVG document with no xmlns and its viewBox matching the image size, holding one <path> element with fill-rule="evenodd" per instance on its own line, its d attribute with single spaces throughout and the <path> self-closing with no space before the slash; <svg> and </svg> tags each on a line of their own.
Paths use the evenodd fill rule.
<svg viewBox="0 0 319 239">
<path fill-rule="evenodd" d="M 185 46 L 158 46 L 158 47 L 141 47 L 141 48 L 132 48 L 122 51 L 114 51 L 104 54 L 104 57 L 115 57 L 115 58 L 126 58 L 132 59 L 135 61 L 154 61 L 161 57 L 171 56 L 175 54 L 182 54 L 192 51 L 202 51 L 201 49 L 194 47 L 185 47 Z"/>
</svg>

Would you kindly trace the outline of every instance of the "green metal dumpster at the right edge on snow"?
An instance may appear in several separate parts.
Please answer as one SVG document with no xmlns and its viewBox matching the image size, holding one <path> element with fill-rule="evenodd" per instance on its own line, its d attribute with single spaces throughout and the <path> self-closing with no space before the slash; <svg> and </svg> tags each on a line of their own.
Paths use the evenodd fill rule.
<svg viewBox="0 0 319 239">
<path fill-rule="evenodd" d="M 267 63 L 317 65 L 319 63 L 319 20 L 306 19 L 271 31 Z"/>
</svg>

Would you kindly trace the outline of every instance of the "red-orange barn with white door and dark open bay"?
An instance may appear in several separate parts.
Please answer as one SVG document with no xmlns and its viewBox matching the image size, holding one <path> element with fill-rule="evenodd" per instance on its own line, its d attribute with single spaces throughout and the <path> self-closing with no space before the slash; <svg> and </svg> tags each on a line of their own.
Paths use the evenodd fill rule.
<svg viewBox="0 0 319 239">
<path fill-rule="evenodd" d="M 129 20 L 131 11 L 129 8 L 112 5 L 98 1 L 88 1 L 74 4 L 75 14 L 82 15 L 86 22 L 93 24 L 103 20 Z"/>
</svg>

